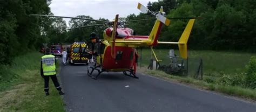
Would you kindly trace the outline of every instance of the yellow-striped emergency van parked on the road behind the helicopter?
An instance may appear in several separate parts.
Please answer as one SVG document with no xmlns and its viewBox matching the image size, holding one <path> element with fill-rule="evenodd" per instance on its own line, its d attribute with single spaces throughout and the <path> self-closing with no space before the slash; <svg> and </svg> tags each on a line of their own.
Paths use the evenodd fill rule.
<svg viewBox="0 0 256 112">
<path fill-rule="evenodd" d="M 69 64 L 73 65 L 73 64 L 85 64 L 88 65 L 88 59 L 85 57 L 82 57 L 82 53 L 84 51 L 84 49 L 86 48 L 86 44 L 85 42 L 75 42 L 73 44 L 70 45 L 69 48 Z M 86 48 L 87 49 L 87 48 Z M 85 51 L 86 51 L 85 49 Z"/>
</svg>

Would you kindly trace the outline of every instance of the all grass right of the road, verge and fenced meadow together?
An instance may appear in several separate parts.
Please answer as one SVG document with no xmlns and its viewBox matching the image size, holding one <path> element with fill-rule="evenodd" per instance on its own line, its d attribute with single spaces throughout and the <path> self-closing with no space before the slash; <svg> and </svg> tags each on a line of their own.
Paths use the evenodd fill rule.
<svg viewBox="0 0 256 112">
<path fill-rule="evenodd" d="M 156 49 L 155 50 L 158 59 L 163 60 L 160 65 L 168 65 L 170 59 L 168 57 L 169 50 Z M 175 51 L 179 55 L 178 50 Z M 220 85 L 219 79 L 224 74 L 234 75 L 235 73 L 245 72 L 245 65 L 248 64 L 250 57 L 255 53 L 245 52 L 225 52 L 225 51 L 189 51 L 188 52 L 188 76 L 174 76 L 166 74 L 162 71 L 147 71 L 146 66 L 149 65 L 151 50 L 144 49 L 142 52 L 142 65 L 141 72 L 156 76 L 158 78 L 164 78 L 167 80 L 178 81 L 194 85 L 200 88 L 215 90 L 228 95 L 241 96 L 249 99 L 256 100 L 256 89 L 239 87 L 239 86 L 226 86 Z M 152 57 L 153 58 L 153 57 Z M 196 73 L 199 59 L 203 59 L 203 80 L 193 79 L 193 75 Z"/>
</svg>

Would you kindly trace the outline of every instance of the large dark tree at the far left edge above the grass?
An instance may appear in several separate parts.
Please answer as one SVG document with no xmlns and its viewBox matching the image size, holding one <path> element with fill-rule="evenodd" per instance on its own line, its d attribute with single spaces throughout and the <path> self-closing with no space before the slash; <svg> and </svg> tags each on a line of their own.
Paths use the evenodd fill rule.
<svg viewBox="0 0 256 112">
<path fill-rule="evenodd" d="M 0 3 L 0 64 L 9 64 L 16 55 L 35 49 L 41 38 L 41 22 L 28 15 L 47 15 L 49 12 L 46 1 L 10 0 Z"/>
</svg>

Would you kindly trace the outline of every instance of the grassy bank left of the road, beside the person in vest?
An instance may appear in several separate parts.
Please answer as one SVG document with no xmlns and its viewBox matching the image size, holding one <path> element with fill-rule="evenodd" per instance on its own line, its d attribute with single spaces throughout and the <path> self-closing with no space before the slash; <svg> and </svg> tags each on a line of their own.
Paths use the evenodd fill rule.
<svg viewBox="0 0 256 112">
<path fill-rule="evenodd" d="M 41 57 L 36 52 L 21 55 L 6 68 L 12 73 L 5 75 L 17 76 L 3 76 L 11 81 L 0 82 L 0 111 L 64 111 L 62 97 L 51 81 L 50 96 L 44 94 L 44 80 L 39 71 Z"/>
</svg>

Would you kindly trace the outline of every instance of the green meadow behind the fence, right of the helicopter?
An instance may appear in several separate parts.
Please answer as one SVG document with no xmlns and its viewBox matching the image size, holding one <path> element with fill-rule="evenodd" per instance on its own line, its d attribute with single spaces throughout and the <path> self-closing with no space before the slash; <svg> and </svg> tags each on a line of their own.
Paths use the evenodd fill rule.
<svg viewBox="0 0 256 112">
<path fill-rule="evenodd" d="M 167 49 L 154 49 L 161 65 L 167 65 L 170 62 L 169 50 Z M 175 54 L 179 56 L 178 50 L 174 50 Z M 142 64 L 149 65 L 150 63 L 150 49 L 143 49 L 142 52 Z M 232 74 L 240 73 L 245 70 L 245 65 L 250 60 L 252 55 L 255 53 L 246 52 L 226 52 L 226 51 L 188 51 L 188 67 L 190 68 L 191 74 L 196 72 L 199 64 L 199 59 L 203 59 L 203 70 L 208 75 L 219 75 L 219 74 Z M 154 58 L 154 57 L 152 57 Z"/>
</svg>

